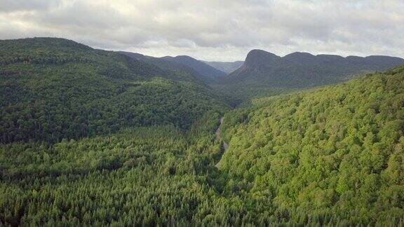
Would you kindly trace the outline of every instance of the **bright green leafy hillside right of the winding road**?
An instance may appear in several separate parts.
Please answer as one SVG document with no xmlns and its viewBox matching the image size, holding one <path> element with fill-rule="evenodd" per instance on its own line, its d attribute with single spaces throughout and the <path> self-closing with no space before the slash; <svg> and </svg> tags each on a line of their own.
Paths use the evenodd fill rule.
<svg viewBox="0 0 404 227">
<path fill-rule="evenodd" d="M 332 223 L 403 224 L 404 67 L 256 100 L 222 131 L 222 171 L 248 193 Z"/>
</svg>

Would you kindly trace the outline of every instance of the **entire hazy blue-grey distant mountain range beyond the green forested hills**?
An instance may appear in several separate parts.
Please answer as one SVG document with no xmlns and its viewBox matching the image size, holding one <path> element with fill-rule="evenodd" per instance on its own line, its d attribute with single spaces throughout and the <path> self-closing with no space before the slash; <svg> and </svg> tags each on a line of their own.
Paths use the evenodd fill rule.
<svg viewBox="0 0 404 227">
<path fill-rule="evenodd" d="M 151 57 L 119 53 L 163 70 L 175 71 L 177 79 L 194 78 L 210 85 L 227 98 L 231 97 L 234 104 L 252 97 L 339 83 L 361 74 L 404 65 L 404 59 L 400 57 L 342 57 L 303 52 L 280 57 L 265 50 L 251 50 L 244 62 L 206 62 L 185 55 Z"/>
</svg>

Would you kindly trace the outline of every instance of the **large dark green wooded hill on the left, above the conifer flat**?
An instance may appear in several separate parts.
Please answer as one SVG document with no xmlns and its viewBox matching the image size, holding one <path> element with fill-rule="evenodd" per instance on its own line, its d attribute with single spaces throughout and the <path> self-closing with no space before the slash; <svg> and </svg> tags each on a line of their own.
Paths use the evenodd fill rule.
<svg viewBox="0 0 404 227">
<path fill-rule="evenodd" d="M 119 53 L 65 39 L 0 42 L 0 142 L 58 142 L 127 126 L 189 128 L 204 112 L 227 108 L 192 78 Z"/>
</svg>

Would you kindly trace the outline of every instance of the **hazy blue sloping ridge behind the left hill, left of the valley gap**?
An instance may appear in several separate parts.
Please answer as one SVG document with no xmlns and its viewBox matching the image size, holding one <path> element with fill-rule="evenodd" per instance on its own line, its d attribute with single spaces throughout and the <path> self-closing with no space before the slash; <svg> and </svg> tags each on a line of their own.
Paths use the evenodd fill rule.
<svg viewBox="0 0 404 227">
<path fill-rule="evenodd" d="M 198 78 L 198 80 L 208 84 L 215 83 L 220 77 L 226 75 L 224 72 L 210 67 L 210 65 L 189 56 L 182 55 L 177 57 L 151 57 L 139 53 L 130 53 L 124 51 L 119 51 L 119 53 L 127 55 L 128 57 L 133 57 L 135 60 L 154 64 L 161 69 L 167 69 L 170 71 L 176 71 L 179 74 L 193 76 L 194 78 Z"/>
</svg>

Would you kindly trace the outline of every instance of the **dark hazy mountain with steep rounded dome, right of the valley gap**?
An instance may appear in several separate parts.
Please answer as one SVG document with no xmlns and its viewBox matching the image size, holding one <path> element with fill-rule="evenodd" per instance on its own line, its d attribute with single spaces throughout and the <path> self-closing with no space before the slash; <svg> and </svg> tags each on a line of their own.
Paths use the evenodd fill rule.
<svg viewBox="0 0 404 227">
<path fill-rule="evenodd" d="M 300 52 L 280 57 L 264 50 L 251 50 L 241 67 L 211 86 L 232 97 L 236 105 L 253 97 L 339 83 L 402 64 L 404 60 L 400 57 L 342 57 Z"/>
</svg>

